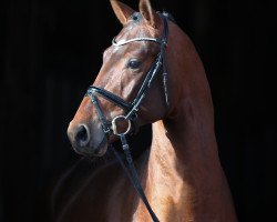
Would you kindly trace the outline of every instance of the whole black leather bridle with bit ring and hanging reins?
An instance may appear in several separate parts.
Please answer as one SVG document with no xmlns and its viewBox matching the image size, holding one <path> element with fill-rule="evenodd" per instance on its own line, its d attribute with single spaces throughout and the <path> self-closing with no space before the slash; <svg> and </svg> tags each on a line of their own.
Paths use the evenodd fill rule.
<svg viewBox="0 0 277 222">
<path fill-rule="evenodd" d="M 115 46 L 115 47 L 122 47 L 122 46 L 125 46 L 127 43 L 137 42 L 137 41 L 152 41 L 152 42 L 160 44 L 160 52 L 156 57 L 156 60 L 153 63 L 153 65 L 150 68 L 135 99 L 132 102 L 126 102 L 122 98 L 117 97 L 116 94 L 114 94 L 114 93 L 112 93 L 103 88 L 98 88 L 94 85 L 89 87 L 89 89 L 86 91 L 86 95 L 90 97 L 92 103 L 95 107 L 98 117 L 101 121 L 101 124 L 102 124 L 103 131 L 107 138 L 107 141 L 109 141 L 109 138 L 112 133 L 120 137 L 121 142 L 122 142 L 122 148 L 123 148 L 123 151 L 125 153 L 126 161 L 129 163 L 129 168 L 124 164 L 123 160 L 121 159 L 120 154 L 115 151 L 115 149 L 113 149 L 112 145 L 110 145 L 110 147 L 114 151 L 115 157 L 119 159 L 119 161 L 120 161 L 121 165 L 123 167 L 123 169 L 125 170 L 126 174 L 130 176 L 134 188 L 136 189 L 137 193 L 142 198 L 142 200 L 143 200 L 144 204 L 146 205 L 153 221 L 155 221 L 155 222 L 157 222 L 158 219 L 155 215 L 155 213 L 153 212 L 153 210 L 151 209 L 150 203 L 144 194 L 144 191 L 143 191 L 142 185 L 140 183 L 138 175 L 136 173 L 136 170 L 135 170 L 135 167 L 134 167 L 134 163 L 132 160 L 132 155 L 131 155 L 125 135 L 127 133 L 130 133 L 130 130 L 132 127 L 133 127 L 133 130 L 135 132 L 138 130 L 138 124 L 137 124 L 138 108 L 143 101 L 143 99 L 145 98 L 147 90 L 151 88 L 154 78 L 161 71 L 161 68 L 163 68 L 162 73 L 163 73 L 163 89 L 164 89 L 164 97 L 165 97 L 165 105 L 166 105 L 166 108 L 168 108 L 168 105 L 170 105 L 168 92 L 167 92 L 167 72 L 166 72 L 166 68 L 165 68 L 165 48 L 167 46 L 168 24 L 167 24 L 166 16 L 161 13 L 161 17 L 162 17 L 163 22 L 164 22 L 164 30 L 163 30 L 162 39 L 134 38 L 131 40 L 120 40 L 120 41 L 116 41 L 115 39 L 113 39 L 113 41 L 112 41 L 113 46 Z M 103 113 L 103 110 L 98 101 L 96 95 L 100 95 L 100 97 L 113 102 L 117 107 L 121 107 L 126 112 L 126 114 L 115 117 L 112 121 L 107 121 L 104 113 Z M 119 119 L 123 119 L 123 120 L 127 121 L 127 123 L 129 123 L 127 130 L 123 133 L 119 133 L 116 130 L 116 120 L 119 120 Z"/>
</svg>

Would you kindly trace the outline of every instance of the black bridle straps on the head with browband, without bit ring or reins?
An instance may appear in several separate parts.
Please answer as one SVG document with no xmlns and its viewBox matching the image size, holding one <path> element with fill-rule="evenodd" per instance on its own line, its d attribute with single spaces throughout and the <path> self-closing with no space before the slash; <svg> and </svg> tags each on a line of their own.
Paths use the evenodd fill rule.
<svg viewBox="0 0 277 222">
<path fill-rule="evenodd" d="M 114 130 L 112 128 L 111 122 L 109 122 L 105 119 L 104 113 L 103 113 L 95 95 L 100 95 L 100 97 L 113 102 L 117 107 L 121 107 L 126 112 L 126 114 L 124 115 L 125 120 L 127 120 L 132 123 L 133 132 L 137 132 L 138 131 L 138 123 L 137 123 L 138 108 L 143 101 L 143 99 L 146 95 L 147 89 L 151 88 L 154 78 L 156 77 L 157 72 L 161 70 L 161 67 L 163 67 L 163 89 L 164 89 L 165 105 L 166 105 L 166 108 L 170 105 L 168 91 L 167 91 L 167 72 L 166 72 L 165 62 L 164 62 L 165 61 L 165 48 L 167 44 L 167 36 L 168 36 L 168 24 L 167 24 L 166 17 L 162 13 L 161 13 L 161 17 L 162 17 L 163 22 L 164 22 L 164 31 L 163 31 L 162 39 L 134 38 L 131 40 L 120 40 L 120 41 L 116 41 L 115 39 L 113 39 L 113 41 L 112 41 L 113 46 L 115 46 L 115 47 L 123 47 L 127 43 L 137 42 L 137 41 L 152 41 L 152 42 L 160 44 L 160 52 L 157 54 L 157 58 L 156 58 L 155 62 L 153 63 L 153 65 L 150 68 L 135 99 L 132 102 L 126 102 L 122 98 L 117 97 L 116 94 L 114 94 L 114 93 L 112 93 L 103 88 L 99 88 L 99 87 L 94 87 L 94 85 L 90 85 L 88 91 L 86 91 L 86 95 L 90 97 L 92 103 L 95 105 L 95 109 L 96 109 L 99 119 L 101 121 L 103 131 L 105 132 L 107 138 L 113 133 Z"/>
</svg>

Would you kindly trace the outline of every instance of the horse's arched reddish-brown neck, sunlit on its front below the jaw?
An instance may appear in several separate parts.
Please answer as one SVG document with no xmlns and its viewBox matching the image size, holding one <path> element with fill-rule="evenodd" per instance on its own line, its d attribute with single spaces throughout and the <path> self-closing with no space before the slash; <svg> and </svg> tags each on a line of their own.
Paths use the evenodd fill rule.
<svg viewBox="0 0 277 222">
<path fill-rule="evenodd" d="M 170 36 L 166 61 L 172 107 L 152 125 L 148 164 L 141 164 L 146 195 L 161 221 L 234 222 L 209 85 L 193 43 L 179 29 Z"/>
</svg>

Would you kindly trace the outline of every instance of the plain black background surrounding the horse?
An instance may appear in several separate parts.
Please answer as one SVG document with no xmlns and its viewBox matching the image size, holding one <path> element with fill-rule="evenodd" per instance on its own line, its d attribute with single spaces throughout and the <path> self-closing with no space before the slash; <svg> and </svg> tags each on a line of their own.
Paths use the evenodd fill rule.
<svg viewBox="0 0 277 222">
<path fill-rule="evenodd" d="M 137 1 L 125 2 L 137 8 Z M 152 6 L 174 14 L 204 62 L 239 221 L 276 221 L 274 4 L 152 0 Z M 0 221 L 47 221 L 44 196 L 79 159 L 66 127 L 121 24 L 107 0 L 4 0 L 0 17 Z"/>
</svg>

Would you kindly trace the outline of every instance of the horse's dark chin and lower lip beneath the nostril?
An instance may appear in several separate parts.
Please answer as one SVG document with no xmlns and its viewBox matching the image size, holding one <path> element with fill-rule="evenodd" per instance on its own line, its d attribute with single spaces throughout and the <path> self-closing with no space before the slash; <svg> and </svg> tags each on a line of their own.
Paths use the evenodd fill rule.
<svg viewBox="0 0 277 222">
<path fill-rule="evenodd" d="M 93 157 L 103 157 L 106 153 L 107 147 L 109 147 L 107 140 L 104 137 L 103 140 L 96 147 L 83 147 L 81 149 L 73 147 L 73 150 L 78 154 L 93 158 Z"/>
</svg>

